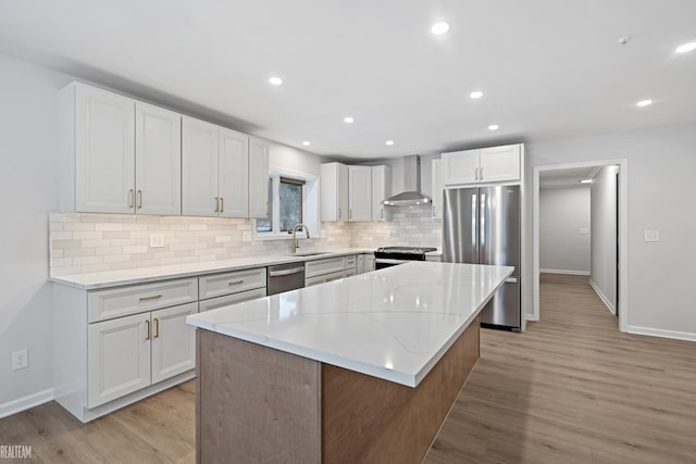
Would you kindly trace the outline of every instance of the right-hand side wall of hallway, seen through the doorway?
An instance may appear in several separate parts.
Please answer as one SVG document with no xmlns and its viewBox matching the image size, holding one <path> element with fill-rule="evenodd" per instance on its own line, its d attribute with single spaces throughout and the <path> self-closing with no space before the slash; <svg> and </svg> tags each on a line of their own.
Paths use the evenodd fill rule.
<svg viewBox="0 0 696 464">
<path fill-rule="evenodd" d="M 593 287 L 614 312 L 617 301 L 617 172 L 602 167 L 592 179 Z"/>
</svg>

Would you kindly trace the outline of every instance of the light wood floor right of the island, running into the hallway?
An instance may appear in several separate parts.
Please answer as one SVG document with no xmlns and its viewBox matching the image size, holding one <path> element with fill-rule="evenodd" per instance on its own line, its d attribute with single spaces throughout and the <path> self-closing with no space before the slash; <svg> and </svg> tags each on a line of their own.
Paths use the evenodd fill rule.
<svg viewBox="0 0 696 464">
<path fill-rule="evenodd" d="M 693 463 L 696 344 L 618 331 L 587 277 L 546 274 L 540 322 L 484 330 L 435 463 Z"/>
</svg>

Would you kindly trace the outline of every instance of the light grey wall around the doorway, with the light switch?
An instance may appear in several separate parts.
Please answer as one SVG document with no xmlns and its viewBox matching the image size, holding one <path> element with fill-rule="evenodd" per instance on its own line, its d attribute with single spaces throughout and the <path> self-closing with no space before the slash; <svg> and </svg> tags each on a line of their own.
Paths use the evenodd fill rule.
<svg viewBox="0 0 696 464">
<path fill-rule="evenodd" d="M 533 179 L 534 166 L 617 159 L 627 160 L 629 167 L 629 329 L 696 340 L 696 124 L 531 143 L 526 170 Z M 538 188 L 532 184 L 527 185 L 527 217 L 533 212 L 531 192 Z M 661 241 L 644 242 L 643 233 L 648 229 L 659 229 Z M 526 237 L 530 258 L 524 272 L 531 276 L 531 229 Z M 526 279 L 524 308 L 530 314 L 532 291 L 532 279 Z"/>
</svg>

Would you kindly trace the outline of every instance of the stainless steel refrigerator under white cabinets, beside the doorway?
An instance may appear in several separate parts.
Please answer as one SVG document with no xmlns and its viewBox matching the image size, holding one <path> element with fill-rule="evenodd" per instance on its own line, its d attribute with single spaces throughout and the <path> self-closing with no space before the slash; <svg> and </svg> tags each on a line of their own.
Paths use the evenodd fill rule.
<svg viewBox="0 0 696 464">
<path fill-rule="evenodd" d="M 520 186 L 445 190 L 443 261 L 513 266 L 481 313 L 482 325 L 520 330 Z"/>
</svg>

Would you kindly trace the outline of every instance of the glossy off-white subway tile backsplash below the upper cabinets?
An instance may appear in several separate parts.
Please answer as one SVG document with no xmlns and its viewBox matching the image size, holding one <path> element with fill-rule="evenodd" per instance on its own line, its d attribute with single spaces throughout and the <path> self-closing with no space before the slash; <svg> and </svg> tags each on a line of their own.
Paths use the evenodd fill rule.
<svg viewBox="0 0 696 464">
<path fill-rule="evenodd" d="M 398 206 L 384 223 L 322 223 L 320 235 L 302 239 L 301 250 L 389 244 L 442 243 L 442 222 L 430 208 Z M 289 240 L 245 242 L 250 220 L 149 216 L 129 214 L 52 213 L 51 273 L 84 272 L 209 262 L 289 251 Z M 163 234 L 164 247 L 150 248 L 150 234 Z"/>
</svg>

